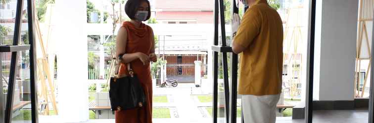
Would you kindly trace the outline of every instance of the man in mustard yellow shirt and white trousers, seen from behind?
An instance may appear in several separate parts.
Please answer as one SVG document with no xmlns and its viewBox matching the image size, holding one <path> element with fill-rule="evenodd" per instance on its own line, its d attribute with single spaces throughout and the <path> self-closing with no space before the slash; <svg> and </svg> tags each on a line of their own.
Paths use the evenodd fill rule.
<svg viewBox="0 0 374 123">
<path fill-rule="evenodd" d="M 266 0 L 242 2 L 250 8 L 241 24 L 239 16 L 233 16 L 233 51 L 240 53 L 238 94 L 244 123 L 275 123 L 282 82 L 281 17 Z"/>
</svg>

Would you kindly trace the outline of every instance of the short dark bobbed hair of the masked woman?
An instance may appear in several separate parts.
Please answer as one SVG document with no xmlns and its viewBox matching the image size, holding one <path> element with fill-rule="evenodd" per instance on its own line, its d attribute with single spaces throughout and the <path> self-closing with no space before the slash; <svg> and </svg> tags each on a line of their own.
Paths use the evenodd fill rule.
<svg viewBox="0 0 374 123">
<path fill-rule="evenodd" d="M 143 1 L 148 3 L 148 16 L 147 16 L 146 20 L 148 20 L 150 18 L 151 12 L 150 12 L 150 4 L 149 4 L 148 0 L 127 0 L 127 2 L 125 4 L 125 12 L 126 12 L 127 16 L 129 16 L 130 19 L 136 20 L 135 14 L 138 11 L 138 7 L 140 6 L 140 3 L 143 2 Z"/>
</svg>

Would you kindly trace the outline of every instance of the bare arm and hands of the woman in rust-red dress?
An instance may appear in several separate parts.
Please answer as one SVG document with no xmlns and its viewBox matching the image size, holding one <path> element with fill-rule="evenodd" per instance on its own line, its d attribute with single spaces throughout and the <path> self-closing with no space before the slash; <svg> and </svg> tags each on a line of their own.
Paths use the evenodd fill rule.
<svg viewBox="0 0 374 123">
<path fill-rule="evenodd" d="M 122 56 L 123 63 L 129 63 L 134 60 L 140 59 L 141 62 L 145 65 L 147 62 L 149 62 L 148 56 L 143 53 L 131 53 L 126 54 L 126 43 L 127 43 L 127 31 L 124 27 L 121 27 L 117 34 L 116 39 L 116 56 L 119 56 L 121 54 L 124 54 Z"/>
</svg>

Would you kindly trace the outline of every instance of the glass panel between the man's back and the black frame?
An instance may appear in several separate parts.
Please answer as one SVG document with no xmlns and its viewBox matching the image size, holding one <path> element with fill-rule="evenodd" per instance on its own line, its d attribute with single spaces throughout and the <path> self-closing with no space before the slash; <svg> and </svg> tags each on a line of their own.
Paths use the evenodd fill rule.
<svg viewBox="0 0 374 123">
<path fill-rule="evenodd" d="M 283 22 L 283 74 L 277 123 L 304 121 L 309 0 L 269 0 Z M 295 115 L 296 114 L 296 115 Z"/>
</svg>

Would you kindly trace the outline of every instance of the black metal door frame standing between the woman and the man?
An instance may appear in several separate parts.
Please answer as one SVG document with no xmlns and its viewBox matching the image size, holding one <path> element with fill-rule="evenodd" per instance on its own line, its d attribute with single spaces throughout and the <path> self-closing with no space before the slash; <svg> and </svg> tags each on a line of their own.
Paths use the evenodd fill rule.
<svg viewBox="0 0 374 123">
<path fill-rule="evenodd" d="M 232 0 L 233 13 L 238 13 L 235 0 Z M 222 65 L 224 74 L 225 92 L 225 121 L 236 123 L 236 99 L 237 99 L 237 55 L 233 53 L 232 47 L 227 46 L 225 29 L 225 6 L 224 0 L 214 0 L 214 43 L 213 50 L 213 123 L 217 123 L 218 116 L 218 54 L 222 53 Z M 231 14 L 233 14 L 231 13 Z M 221 23 L 219 23 L 221 22 Z M 221 27 L 219 27 L 221 26 Z M 221 41 L 219 45 L 219 28 L 221 28 Z M 231 82 L 229 83 L 228 53 L 231 55 Z"/>
</svg>

